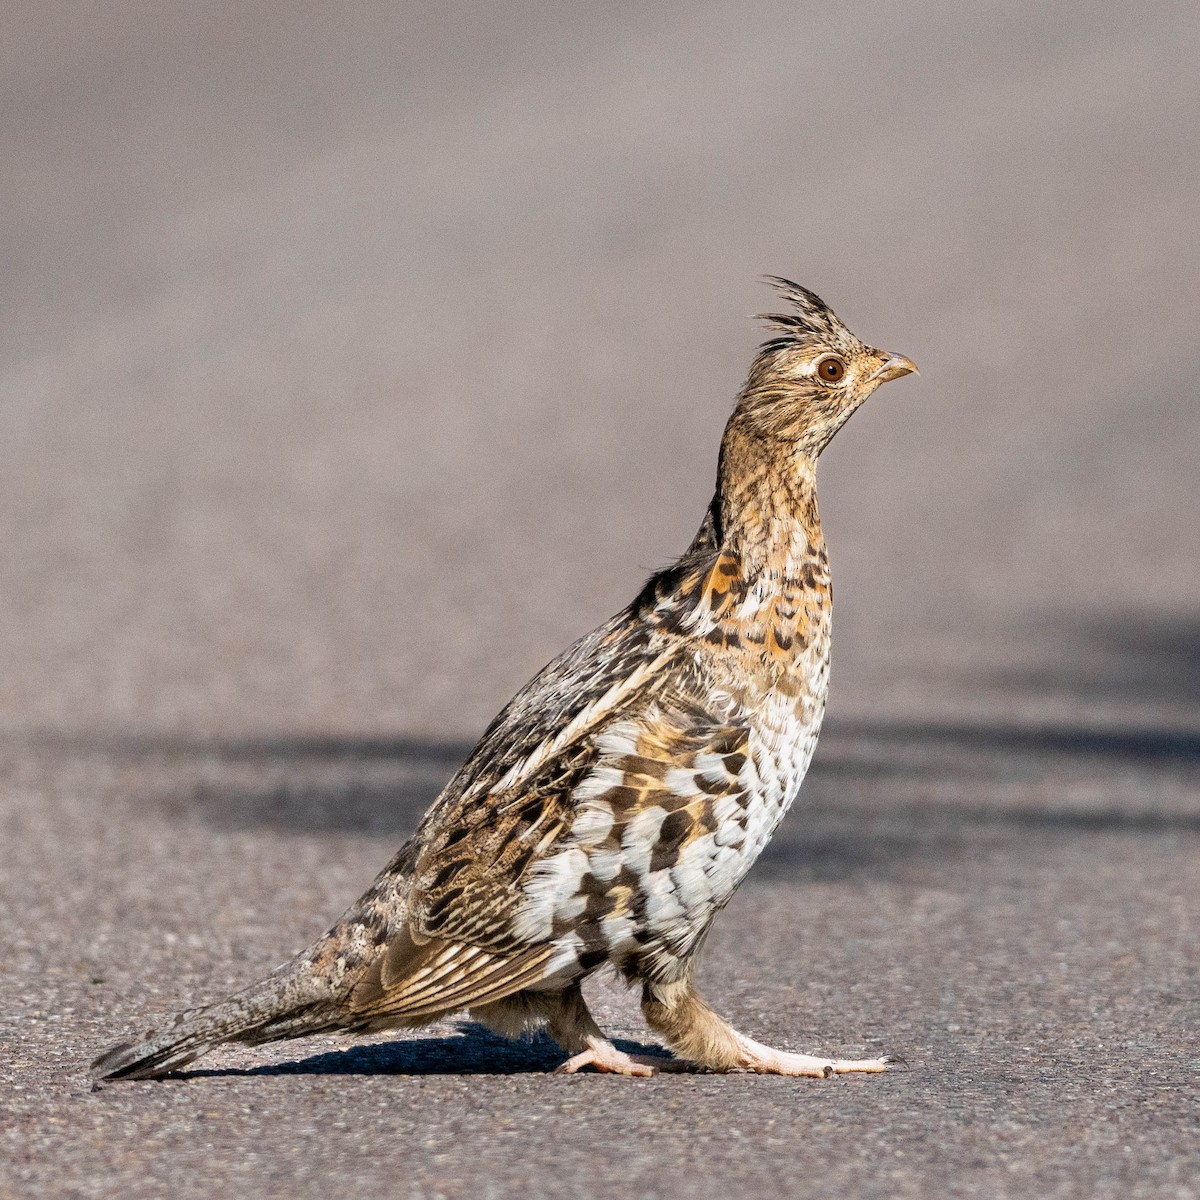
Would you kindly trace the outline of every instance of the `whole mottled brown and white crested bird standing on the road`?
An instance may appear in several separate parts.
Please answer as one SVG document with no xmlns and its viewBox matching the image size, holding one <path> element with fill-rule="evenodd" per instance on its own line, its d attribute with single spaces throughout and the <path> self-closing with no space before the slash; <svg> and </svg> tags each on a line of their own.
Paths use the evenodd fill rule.
<svg viewBox="0 0 1200 1200">
<path fill-rule="evenodd" d="M 811 292 L 762 347 L 683 557 L 546 666 L 496 718 L 407 845 L 268 979 L 124 1043 L 97 1078 L 146 1078 L 228 1040 L 421 1025 L 462 1009 L 574 1057 L 649 1074 L 580 990 L 611 964 L 646 1018 L 710 1070 L 882 1070 L 758 1045 L 695 990 L 697 950 L 799 790 L 824 713 L 832 593 L 816 460 L 851 413 L 916 370 Z"/>
</svg>

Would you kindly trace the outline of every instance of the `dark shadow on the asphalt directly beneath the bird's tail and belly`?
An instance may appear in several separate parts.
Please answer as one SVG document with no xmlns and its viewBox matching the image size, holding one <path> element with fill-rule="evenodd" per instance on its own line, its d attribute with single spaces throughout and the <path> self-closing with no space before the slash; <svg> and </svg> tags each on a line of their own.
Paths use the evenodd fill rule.
<svg viewBox="0 0 1200 1200">
<path fill-rule="evenodd" d="M 618 1050 L 671 1061 L 659 1045 L 613 1039 Z M 546 1033 L 510 1040 L 474 1022 L 446 1037 L 408 1037 L 328 1050 L 293 1062 L 262 1067 L 216 1067 L 174 1072 L 174 1079 L 232 1079 L 258 1075 L 527 1075 L 547 1074 L 566 1055 Z"/>
</svg>

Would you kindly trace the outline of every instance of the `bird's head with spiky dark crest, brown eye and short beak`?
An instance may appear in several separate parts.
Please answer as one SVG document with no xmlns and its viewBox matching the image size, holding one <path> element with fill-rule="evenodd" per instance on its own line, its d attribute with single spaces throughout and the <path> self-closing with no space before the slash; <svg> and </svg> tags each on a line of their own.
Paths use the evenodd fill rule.
<svg viewBox="0 0 1200 1200">
<path fill-rule="evenodd" d="M 775 336 L 760 348 L 734 415 L 751 436 L 816 458 L 881 383 L 917 365 L 859 341 L 808 288 L 767 280 L 791 311 L 760 314 Z"/>
</svg>

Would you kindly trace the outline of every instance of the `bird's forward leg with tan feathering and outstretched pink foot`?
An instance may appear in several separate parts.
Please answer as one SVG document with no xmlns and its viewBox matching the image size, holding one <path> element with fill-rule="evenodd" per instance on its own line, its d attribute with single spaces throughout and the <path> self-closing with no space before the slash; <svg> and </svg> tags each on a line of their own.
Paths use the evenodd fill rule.
<svg viewBox="0 0 1200 1200">
<path fill-rule="evenodd" d="M 676 1054 L 704 1070 L 755 1070 L 767 1075 L 828 1079 L 850 1072 L 881 1072 L 887 1058 L 817 1058 L 772 1050 L 738 1033 L 701 1000 L 690 978 L 647 984 L 642 991 L 646 1022 Z"/>
</svg>

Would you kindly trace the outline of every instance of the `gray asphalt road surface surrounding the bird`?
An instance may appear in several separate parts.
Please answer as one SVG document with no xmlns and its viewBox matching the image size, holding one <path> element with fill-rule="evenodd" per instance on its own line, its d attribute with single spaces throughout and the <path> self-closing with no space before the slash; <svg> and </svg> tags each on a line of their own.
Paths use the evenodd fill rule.
<svg viewBox="0 0 1200 1200">
<path fill-rule="evenodd" d="M 1200 1196 L 1195 5 L 5 24 L 0 1196 Z M 766 271 L 923 374 L 822 462 L 827 732 L 702 980 L 907 1067 L 445 1027 L 91 1092 L 682 550 Z"/>
</svg>

